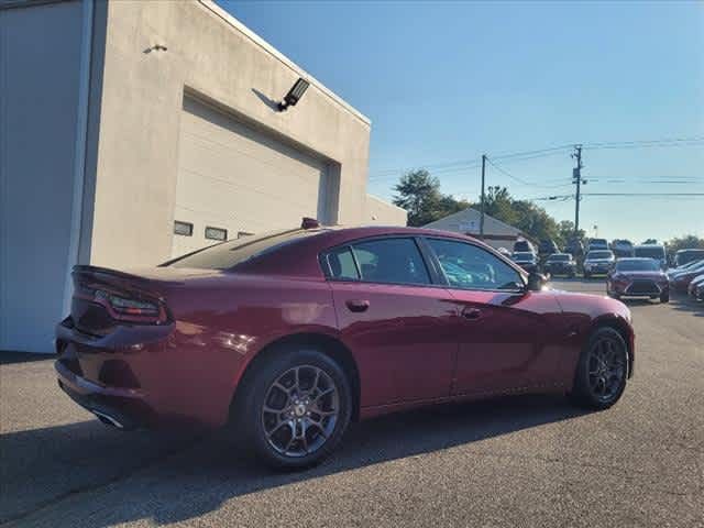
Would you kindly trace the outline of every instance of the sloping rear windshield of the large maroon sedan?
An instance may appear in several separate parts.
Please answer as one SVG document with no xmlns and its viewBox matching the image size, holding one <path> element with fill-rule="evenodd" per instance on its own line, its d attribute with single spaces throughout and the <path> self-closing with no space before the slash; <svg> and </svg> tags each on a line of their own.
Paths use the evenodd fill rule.
<svg viewBox="0 0 704 528">
<path fill-rule="evenodd" d="M 243 237 L 198 250 L 195 253 L 180 256 L 175 261 L 169 261 L 164 265 L 205 270 L 230 270 L 244 261 L 276 251 L 284 245 L 320 232 L 321 230 L 315 229 L 295 229 Z"/>
</svg>

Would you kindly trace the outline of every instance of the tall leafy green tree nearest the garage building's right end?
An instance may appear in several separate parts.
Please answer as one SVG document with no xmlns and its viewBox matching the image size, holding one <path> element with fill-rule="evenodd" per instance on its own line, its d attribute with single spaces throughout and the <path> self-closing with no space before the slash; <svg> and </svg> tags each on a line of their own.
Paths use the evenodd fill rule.
<svg viewBox="0 0 704 528">
<path fill-rule="evenodd" d="M 394 190 L 394 204 L 408 211 L 408 226 L 425 226 L 470 207 L 466 200 L 441 194 L 440 180 L 426 169 L 406 173 Z"/>
</svg>

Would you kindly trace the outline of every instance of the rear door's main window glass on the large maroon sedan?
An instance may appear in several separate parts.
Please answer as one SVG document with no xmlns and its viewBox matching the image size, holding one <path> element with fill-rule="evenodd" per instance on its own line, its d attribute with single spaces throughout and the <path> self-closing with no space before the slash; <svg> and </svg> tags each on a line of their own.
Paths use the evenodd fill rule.
<svg viewBox="0 0 704 528">
<path fill-rule="evenodd" d="M 376 239 L 352 244 L 361 279 L 386 284 L 430 284 L 430 275 L 410 238 Z"/>
</svg>

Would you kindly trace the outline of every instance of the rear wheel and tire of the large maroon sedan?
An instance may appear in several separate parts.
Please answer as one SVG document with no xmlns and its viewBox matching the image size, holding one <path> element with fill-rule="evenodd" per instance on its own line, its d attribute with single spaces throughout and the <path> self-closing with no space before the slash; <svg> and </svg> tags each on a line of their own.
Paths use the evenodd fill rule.
<svg viewBox="0 0 704 528">
<path fill-rule="evenodd" d="M 350 424 L 350 382 L 338 363 L 312 348 L 275 350 L 254 365 L 241 389 L 231 421 L 256 457 L 278 470 L 320 463 Z"/>
</svg>

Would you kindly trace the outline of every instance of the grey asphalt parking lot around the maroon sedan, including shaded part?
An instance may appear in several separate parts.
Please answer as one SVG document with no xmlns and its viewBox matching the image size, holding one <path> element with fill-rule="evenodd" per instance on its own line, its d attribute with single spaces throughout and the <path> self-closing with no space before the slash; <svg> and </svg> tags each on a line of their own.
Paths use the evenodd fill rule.
<svg viewBox="0 0 704 528">
<path fill-rule="evenodd" d="M 222 435 L 120 433 L 59 392 L 52 361 L 3 364 L 0 522 L 704 526 L 704 305 L 628 304 L 636 373 L 610 410 L 530 396 L 399 414 L 304 473 L 264 470 Z"/>
</svg>

